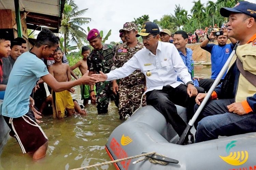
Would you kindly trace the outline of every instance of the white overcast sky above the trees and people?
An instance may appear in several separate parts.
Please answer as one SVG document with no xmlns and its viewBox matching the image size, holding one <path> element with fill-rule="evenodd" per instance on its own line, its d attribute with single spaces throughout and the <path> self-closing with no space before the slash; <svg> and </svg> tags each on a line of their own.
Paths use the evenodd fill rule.
<svg viewBox="0 0 256 170">
<path fill-rule="evenodd" d="M 201 3 L 206 4 L 207 1 L 201 0 Z M 216 2 L 217 0 L 212 1 Z M 246 1 L 256 3 L 256 0 Z M 87 27 L 96 28 L 99 31 L 102 30 L 104 35 L 110 29 L 112 30 L 106 43 L 120 41 L 119 29 L 123 28 L 125 22 L 133 21 L 133 18 L 146 14 L 149 15 L 150 21 L 160 20 L 165 14 L 174 14 L 175 4 L 180 4 L 189 13 L 194 4 L 193 0 L 75 0 L 75 3 L 80 10 L 88 8 L 83 17 L 89 17 L 91 21 L 83 26 L 85 30 Z"/>
</svg>

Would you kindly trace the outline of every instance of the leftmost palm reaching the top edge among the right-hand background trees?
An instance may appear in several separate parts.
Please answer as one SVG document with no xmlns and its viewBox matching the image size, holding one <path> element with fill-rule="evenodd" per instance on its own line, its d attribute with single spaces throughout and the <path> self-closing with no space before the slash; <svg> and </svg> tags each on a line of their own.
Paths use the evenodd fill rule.
<svg viewBox="0 0 256 170">
<path fill-rule="evenodd" d="M 201 29 L 201 21 L 204 18 L 204 14 L 205 14 L 204 3 L 201 3 L 201 0 L 193 1 L 193 3 L 194 3 L 194 6 L 191 9 L 191 13 L 193 14 L 194 18 L 198 19 L 199 26 Z"/>
</svg>

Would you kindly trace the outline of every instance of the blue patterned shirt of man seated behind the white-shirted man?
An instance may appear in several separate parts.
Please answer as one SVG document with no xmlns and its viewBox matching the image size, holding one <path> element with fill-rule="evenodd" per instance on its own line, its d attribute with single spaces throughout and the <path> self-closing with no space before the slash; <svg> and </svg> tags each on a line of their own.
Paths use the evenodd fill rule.
<svg viewBox="0 0 256 170">
<path fill-rule="evenodd" d="M 184 55 L 180 50 L 178 50 L 180 53 L 180 56 L 185 64 L 187 66 L 188 72 L 191 75 L 191 80 L 193 80 L 193 74 L 194 74 L 194 60 L 192 58 L 193 51 L 190 48 L 186 48 L 186 55 Z M 193 72 L 193 73 L 192 73 Z M 177 81 L 182 82 L 182 80 L 177 77 Z M 193 80 L 194 86 L 198 87 L 199 82 L 197 79 Z"/>
</svg>

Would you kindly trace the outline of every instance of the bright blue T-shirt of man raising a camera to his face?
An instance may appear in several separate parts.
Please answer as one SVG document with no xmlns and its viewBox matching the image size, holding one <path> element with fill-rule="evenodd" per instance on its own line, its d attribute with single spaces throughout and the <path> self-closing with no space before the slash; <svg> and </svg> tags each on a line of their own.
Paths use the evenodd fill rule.
<svg viewBox="0 0 256 170">
<path fill-rule="evenodd" d="M 229 55 L 231 54 L 234 44 L 226 44 L 225 46 L 219 46 L 216 44 L 207 44 L 207 46 L 202 47 L 202 49 L 211 53 L 211 62 L 212 62 L 212 76 L 211 79 L 216 79 L 222 67 L 228 60 Z M 227 71 L 223 75 L 224 79 Z"/>
</svg>

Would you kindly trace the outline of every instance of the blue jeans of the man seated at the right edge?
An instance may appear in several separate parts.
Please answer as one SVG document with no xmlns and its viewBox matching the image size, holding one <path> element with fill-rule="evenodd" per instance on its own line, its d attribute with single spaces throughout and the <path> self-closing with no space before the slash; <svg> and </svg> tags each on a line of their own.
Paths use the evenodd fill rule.
<svg viewBox="0 0 256 170">
<path fill-rule="evenodd" d="M 256 132 L 256 114 L 237 115 L 228 112 L 227 105 L 234 99 L 212 100 L 200 114 L 195 142 L 217 139 L 218 136 L 232 136 Z M 198 105 L 195 105 L 195 110 Z M 199 118 L 199 119 L 200 119 Z"/>
</svg>

